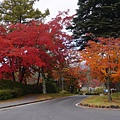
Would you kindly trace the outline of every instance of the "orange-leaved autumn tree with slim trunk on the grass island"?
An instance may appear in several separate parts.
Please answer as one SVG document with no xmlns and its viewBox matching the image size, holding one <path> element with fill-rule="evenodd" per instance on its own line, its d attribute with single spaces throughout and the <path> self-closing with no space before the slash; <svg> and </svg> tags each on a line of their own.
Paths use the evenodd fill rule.
<svg viewBox="0 0 120 120">
<path fill-rule="evenodd" d="M 99 38 L 99 42 L 89 42 L 81 52 L 81 59 L 91 68 L 93 78 L 107 83 L 108 99 L 110 83 L 120 81 L 120 38 Z"/>
</svg>

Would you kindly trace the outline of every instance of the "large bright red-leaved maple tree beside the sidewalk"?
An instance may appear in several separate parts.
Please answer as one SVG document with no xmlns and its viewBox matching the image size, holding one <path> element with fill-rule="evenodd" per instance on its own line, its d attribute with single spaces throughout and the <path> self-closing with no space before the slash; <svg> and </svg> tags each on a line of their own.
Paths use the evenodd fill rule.
<svg viewBox="0 0 120 120">
<path fill-rule="evenodd" d="M 23 82 L 28 72 L 29 74 L 41 72 L 42 78 L 45 80 L 46 71 L 50 71 L 55 63 L 62 63 L 65 60 L 64 43 L 70 39 L 70 35 L 67 35 L 62 29 L 64 25 L 70 23 L 70 19 L 71 17 L 63 12 L 48 23 L 30 21 L 28 24 L 9 24 L 6 25 L 8 29 L 6 32 L 1 26 L 0 63 L 4 69 L 0 74 L 7 73 L 9 70 L 17 71 L 19 81 Z M 11 46 L 7 44 L 8 42 Z M 3 46 L 2 43 L 5 45 Z M 38 78 L 40 78 L 39 76 Z M 4 74 L 1 77 L 4 78 Z M 46 93 L 45 90 L 44 93 Z"/>
</svg>

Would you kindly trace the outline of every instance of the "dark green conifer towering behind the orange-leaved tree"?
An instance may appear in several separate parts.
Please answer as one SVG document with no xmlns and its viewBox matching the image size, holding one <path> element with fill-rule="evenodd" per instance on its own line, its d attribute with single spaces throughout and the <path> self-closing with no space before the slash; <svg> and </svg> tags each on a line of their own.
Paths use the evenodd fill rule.
<svg viewBox="0 0 120 120">
<path fill-rule="evenodd" d="M 73 18 L 73 36 L 86 33 L 96 36 L 120 36 L 120 0 L 78 0 Z"/>
</svg>

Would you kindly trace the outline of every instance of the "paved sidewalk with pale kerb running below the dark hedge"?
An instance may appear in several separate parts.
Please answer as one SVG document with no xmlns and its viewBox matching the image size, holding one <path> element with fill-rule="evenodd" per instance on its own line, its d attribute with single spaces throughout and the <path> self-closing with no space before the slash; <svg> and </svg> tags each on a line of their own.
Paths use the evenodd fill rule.
<svg viewBox="0 0 120 120">
<path fill-rule="evenodd" d="M 39 96 L 40 95 L 38 95 L 38 94 L 37 95 L 27 95 L 22 98 L 0 101 L 0 109 L 40 102 L 42 100 L 38 99 Z"/>
</svg>

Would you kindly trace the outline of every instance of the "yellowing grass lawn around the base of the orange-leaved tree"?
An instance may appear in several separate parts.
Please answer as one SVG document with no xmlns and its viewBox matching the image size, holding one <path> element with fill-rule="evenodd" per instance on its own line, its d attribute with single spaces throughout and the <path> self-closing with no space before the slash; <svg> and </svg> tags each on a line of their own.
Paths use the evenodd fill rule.
<svg viewBox="0 0 120 120">
<path fill-rule="evenodd" d="M 90 96 L 83 100 L 81 105 L 90 107 L 120 108 L 120 93 L 112 93 L 112 101 L 108 101 L 107 95 Z"/>
</svg>

